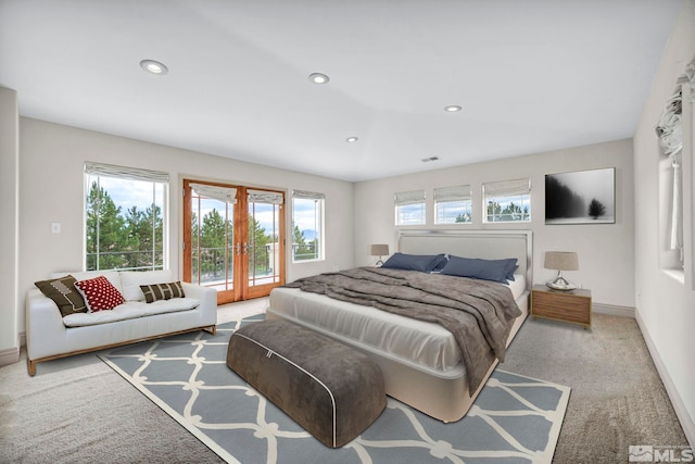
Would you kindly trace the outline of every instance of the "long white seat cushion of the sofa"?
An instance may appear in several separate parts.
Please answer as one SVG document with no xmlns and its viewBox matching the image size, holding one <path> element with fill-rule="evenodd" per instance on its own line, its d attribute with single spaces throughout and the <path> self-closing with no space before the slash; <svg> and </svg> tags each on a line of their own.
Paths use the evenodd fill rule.
<svg viewBox="0 0 695 464">
<path fill-rule="evenodd" d="M 143 301 L 126 301 L 112 311 L 99 311 L 97 313 L 71 314 L 63 317 L 63 324 L 67 327 L 85 327 L 97 324 L 108 324 L 137 317 L 153 316 L 155 314 L 176 313 L 189 311 L 200 305 L 194 298 L 176 298 L 173 300 L 160 300 L 154 303 Z"/>
</svg>

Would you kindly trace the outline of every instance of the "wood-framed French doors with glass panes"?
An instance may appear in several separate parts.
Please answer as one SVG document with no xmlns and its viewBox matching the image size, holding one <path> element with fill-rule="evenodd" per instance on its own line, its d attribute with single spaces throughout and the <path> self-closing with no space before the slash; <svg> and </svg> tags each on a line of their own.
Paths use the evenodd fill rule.
<svg viewBox="0 0 695 464">
<path fill-rule="evenodd" d="M 285 193 L 184 179 L 184 280 L 217 304 L 265 297 L 285 283 Z"/>
</svg>

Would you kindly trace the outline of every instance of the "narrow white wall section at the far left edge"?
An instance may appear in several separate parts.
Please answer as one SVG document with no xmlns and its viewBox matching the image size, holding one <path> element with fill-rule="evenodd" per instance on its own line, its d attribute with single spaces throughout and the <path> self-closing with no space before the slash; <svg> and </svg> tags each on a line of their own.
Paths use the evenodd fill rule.
<svg viewBox="0 0 695 464">
<path fill-rule="evenodd" d="M 17 93 L 0 87 L 0 366 L 20 360 L 17 337 L 18 246 L 18 111 Z"/>
</svg>

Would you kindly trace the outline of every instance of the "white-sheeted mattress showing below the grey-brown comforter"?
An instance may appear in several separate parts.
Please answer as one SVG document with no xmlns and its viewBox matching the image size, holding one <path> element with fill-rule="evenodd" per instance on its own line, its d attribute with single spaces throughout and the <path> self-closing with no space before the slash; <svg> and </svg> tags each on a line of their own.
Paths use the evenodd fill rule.
<svg viewBox="0 0 695 464">
<path fill-rule="evenodd" d="M 515 300 L 526 298 L 523 275 L 515 274 L 509 288 Z M 439 324 L 283 287 L 270 292 L 267 312 L 357 340 L 428 371 L 447 373 L 460 369 L 458 344 L 454 336 Z"/>
</svg>

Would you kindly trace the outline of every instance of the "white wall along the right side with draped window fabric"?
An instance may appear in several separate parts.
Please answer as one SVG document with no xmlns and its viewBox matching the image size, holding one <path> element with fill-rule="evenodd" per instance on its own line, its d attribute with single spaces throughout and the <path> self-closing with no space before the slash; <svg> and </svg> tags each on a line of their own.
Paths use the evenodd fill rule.
<svg viewBox="0 0 695 464">
<path fill-rule="evenodd" d="M 682 280 L 673 278 L 659 266 L 664 248 L 664 225 L 655 221 L 659 198 L 658 141 L 654 126 L 675 81 L 685 65 L 695 59 L 695 0 L 683 2 L 683 10 L 661 59 L 649 98 L 634 135 L 635 203 L 635 291 L 636 316 L 653 358 L 660 371 L 681 424 L 691 444 L 695 444 L 695 260 L 694 213 L 695 178 L 693 156 L 693 103 L 684 98 L 684 243 L 686 266 Z M 686 93 L 688 91 L 686 90 Z M 691 92 L 692 96 L 692 92 Z M 667 202 L 662 202 L 668 204 Z M 668 215 L 667 215 L 668 216 Z"/>
</svg>

